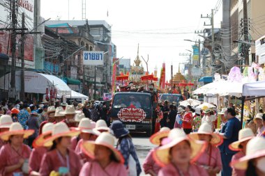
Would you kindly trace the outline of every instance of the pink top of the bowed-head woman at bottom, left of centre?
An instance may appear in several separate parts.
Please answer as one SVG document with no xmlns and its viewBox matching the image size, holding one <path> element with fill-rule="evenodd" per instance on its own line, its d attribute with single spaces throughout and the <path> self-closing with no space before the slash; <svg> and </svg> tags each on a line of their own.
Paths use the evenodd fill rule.
<svg viewBox="0 0 265 176">
<path fill-rule="evenodd" d="M 102 168 L 96 161 L 86 162 L 79 176 L 124 176 L 128 175 L 122 163 L 112 161 L 106 168 Z"/>
</svg>

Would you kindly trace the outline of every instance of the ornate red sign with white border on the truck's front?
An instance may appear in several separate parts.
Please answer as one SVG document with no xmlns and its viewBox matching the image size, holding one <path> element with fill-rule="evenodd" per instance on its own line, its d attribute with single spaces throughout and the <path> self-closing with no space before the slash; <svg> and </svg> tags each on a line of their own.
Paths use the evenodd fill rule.
<svg viewBox="0 0 265 176">
<path fill-rule="evenodd" d="M 118 113 L 118 118 L 122 122 L 142 122 L 146 118 L 146 113 L 143 109 L 137 109 L 130 105 L 128 108 L 123 108 Z"/>
</svg>

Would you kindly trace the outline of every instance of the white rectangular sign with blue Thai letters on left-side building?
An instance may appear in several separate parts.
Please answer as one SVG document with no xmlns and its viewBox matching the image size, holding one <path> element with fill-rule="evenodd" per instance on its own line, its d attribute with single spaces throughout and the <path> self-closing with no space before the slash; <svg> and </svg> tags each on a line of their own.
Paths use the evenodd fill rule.
<svg viewBox="0 0 265 176">
<path fill-rule="evenodd" d="M 84 65 L 104 65 L 103 51 L 83 51 Z"/>
</svg>

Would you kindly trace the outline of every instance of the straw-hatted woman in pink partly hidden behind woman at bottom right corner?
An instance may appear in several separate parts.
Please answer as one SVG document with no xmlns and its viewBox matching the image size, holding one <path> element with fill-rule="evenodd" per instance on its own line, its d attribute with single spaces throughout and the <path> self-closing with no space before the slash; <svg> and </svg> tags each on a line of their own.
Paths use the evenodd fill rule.
<svg viewBox="0 0 265 176">
<path fill-rule="evenodd" d="M 250 141 L 251 138 L 254 137 L 254 134 L 250 128 L 241 129 L 239 131 L 239 141 L 236 141 L 229 145 L 230 150 L 239 151 L 232 157 L 232 163 L 234 161 L 237 161 L 245 156 L 246 152 L 246 146 L 248 144 L 248 141 Z M 245 175 L 245 170 L 239 170 L 234 167 L 232 167 L 232 176 L 241 176 Z"/>
</svg>

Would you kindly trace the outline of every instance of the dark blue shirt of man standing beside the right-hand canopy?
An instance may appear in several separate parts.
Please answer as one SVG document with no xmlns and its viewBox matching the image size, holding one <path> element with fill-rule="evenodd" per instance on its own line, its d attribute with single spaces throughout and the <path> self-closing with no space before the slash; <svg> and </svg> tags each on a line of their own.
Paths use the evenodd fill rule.
<svg viewBox="0 0 265 176">
<path fill-rule="evenodd" d="M 224 134 L 224 142 L 219 146 L 220 152 L 227 154 L 235 154 L 235 151 L 229 149 L 229 145 L 239 140 L 239 130 L 241 129 L 241 123 L 238 118 L 229 119 L 222 127 L 221 133 Z"/>
</svg>

